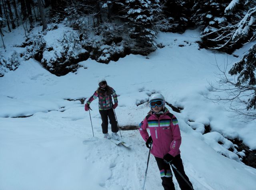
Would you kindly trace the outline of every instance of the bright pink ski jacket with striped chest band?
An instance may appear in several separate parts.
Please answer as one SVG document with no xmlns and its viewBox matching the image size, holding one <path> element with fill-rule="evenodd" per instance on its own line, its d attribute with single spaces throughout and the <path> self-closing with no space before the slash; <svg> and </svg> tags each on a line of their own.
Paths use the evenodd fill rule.
<svg viewBox="0 0 256 190">
<path fill-rule="evenodd" d="M 180 154 L 181 136 L 178 120 L 167 108 L 159 117 L 150 111 L 139 127 L 140 134 L 145 141 L 149 138 L 147 132 L 149 128 L 153 140 L 151 153 L 154 156 L 163 158 L 167 153 L 173 157 Z"/>
</svg>

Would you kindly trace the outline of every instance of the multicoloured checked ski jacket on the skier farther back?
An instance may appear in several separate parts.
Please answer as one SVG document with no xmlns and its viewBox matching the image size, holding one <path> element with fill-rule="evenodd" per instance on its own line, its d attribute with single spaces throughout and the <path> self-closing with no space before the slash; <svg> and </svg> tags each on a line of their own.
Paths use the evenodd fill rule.
<svg viewBox="0 0 256 190">
<path fill-rule="evenodd" d="M 117 101 L 116 91 L 113 88 L 111 88 L 110 86 L 109 86 L 109 88 L 110 88 L 110 92 L 111 92 L 110 95 L 106 95 L 106 93 L 105 94 L 99 94 L 98 90 L 96 90 L 94 92 L 94 94 L 88 99 L 86 104 L 90 105 L 90 103 L 98 97 L 99 98 L 99 110 L 109 110 L 109 109 L 111 109 L 112 106 L 113 106 L 111 95 L 113 96 L 115 103 L 117 103 L 118 101 Z"/>
</svg>

